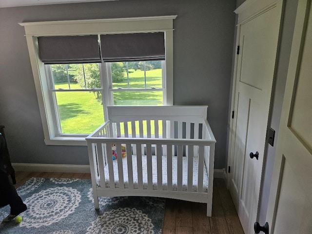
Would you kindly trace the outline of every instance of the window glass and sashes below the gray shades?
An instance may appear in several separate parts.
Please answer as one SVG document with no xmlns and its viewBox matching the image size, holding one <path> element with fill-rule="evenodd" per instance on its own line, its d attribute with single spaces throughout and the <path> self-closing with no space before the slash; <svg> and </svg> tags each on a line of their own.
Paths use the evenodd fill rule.
<svg viewBox="0 0 312 234">
<path fill-rule="evenodd" d="M 92 133 L 103 123 L 108 105 L 163 105 L 164 62 L 109 62 L 104 73 L 100 63 L 45 65 L 56 132 L 59 136 Z"/>
</svg>

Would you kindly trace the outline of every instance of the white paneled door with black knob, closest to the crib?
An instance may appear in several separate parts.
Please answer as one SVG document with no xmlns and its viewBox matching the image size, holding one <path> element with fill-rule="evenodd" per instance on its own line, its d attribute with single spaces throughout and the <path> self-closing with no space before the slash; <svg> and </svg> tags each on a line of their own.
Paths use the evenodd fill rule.
<svg viewBox="0 0 312 234">
<path fill-rule="evenodd" d="M 246 234 L 258 211 L 281 11 L 279 1 L 240 27 L 229 189 Z"/>
</svg>

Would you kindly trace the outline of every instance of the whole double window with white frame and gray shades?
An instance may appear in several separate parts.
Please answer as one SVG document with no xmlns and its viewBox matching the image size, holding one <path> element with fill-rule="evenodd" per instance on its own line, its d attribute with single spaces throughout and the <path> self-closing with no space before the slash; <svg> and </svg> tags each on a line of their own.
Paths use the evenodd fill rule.
<svg viewBox="0 0 312 234">
<path fill-rule="evenodd" d="M 175 18 L 20 23 L 25 27 L 45 143 L 84 145 L 84 138 L 104 122 L 108 105 L 173 104 Z M 162 37 L 163 54 L 137 55 L 131 48 L 135 46 L 123 45 L 124 41 L 132 38 L 137 41 L 136 37 L 142 35 Z M 52 42 L 46 42 L 46 38 Z M 57 58 L 53 58 L 57 53 L 51 53 L 51 49 L 42 52 L 42 44 L 51 45 L 55 39 L 68 38 L 77 41 L 69 44 L 57 41 L 57 45 L 62 44 Z M 110 39 L 119 44 L 114 48 Z M 99 42 L 100 53 L 98 45 L 87 50 L 81 49 L 86 46 L 79 46 L 95 40 Z M 73 44 L 77 47 L 71 49 Z M 157 51 L 157 43 L 152 44 L 155 46 L 147 51 Z"/>
</svg>

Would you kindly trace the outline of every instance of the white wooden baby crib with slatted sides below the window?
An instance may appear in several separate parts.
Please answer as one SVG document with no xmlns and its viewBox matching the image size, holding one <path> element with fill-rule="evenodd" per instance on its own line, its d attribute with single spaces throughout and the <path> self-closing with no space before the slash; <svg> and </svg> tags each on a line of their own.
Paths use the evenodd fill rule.
<svg viewBox="0 0 312 234">
<path fill-rule="evenodd" d="M 95 208 L 100 196 L 156 196 L 207 203 L 211 216 L 216 141 L 207 108 L 109 106 L 109 120 L 86 138 Z"/>
</svg>

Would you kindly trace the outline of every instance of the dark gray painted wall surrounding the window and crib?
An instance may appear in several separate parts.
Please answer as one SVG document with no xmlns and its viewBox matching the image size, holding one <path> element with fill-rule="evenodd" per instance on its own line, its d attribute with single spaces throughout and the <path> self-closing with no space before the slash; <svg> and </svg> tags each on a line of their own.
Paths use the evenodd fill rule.
<svg viewBox="0 0 312 234">
<path fill-rule="evenodd" d="M 12 162 L 88 164 L 84 146 L 46 146 L 24 28 L 19 22 L 177 15 L 174 104 L 208 105 L 217 139 L 215 168 L 226 166 L 234 41 L 233 0 L 119 0 L 0 8 L 0 124 Z"/>
</svg>

